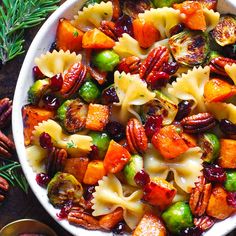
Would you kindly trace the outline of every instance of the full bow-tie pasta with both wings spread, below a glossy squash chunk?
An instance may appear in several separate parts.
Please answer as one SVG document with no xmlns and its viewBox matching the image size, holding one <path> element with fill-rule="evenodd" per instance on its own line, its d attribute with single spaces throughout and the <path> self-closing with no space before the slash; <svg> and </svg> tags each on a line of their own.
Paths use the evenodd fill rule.
<svg viewBox="0 0 236 236">
<path fill-rule="evenodd" d="M 165 160 L 150 144 L 144 155 L 144 168 L 151 177 L 166 179 L 170 171 L 174 174 L 175 183 L 189 193 L 194 187 L 202 170 L 202 150 L 199 147 L 189 148 L 185 153 L 174 160 Z"/>
</svg>

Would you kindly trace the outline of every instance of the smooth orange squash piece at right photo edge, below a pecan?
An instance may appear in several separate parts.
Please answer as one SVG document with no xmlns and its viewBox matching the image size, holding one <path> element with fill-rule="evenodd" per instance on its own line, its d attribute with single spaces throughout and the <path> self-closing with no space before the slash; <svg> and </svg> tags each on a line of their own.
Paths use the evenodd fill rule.
<svg viewBox="0 0 236 236">
<path fill-rule="evenodd" d="M 204 87 L 207 102 L 222 102 L 235 94 L 235 86 L 217 78 L 209 80 Z"/>
</svg>

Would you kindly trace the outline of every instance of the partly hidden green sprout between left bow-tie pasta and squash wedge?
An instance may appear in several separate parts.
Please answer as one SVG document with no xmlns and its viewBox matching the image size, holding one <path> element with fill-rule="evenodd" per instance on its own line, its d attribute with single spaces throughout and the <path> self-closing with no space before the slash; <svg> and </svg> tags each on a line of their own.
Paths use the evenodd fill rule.
<svg viewBox="0 0 236 236">
<path fill-rule="evenodd" d="M 107 133 L 90 132 L 89 136 L 93 139 L 92 143 L 98 148 L 99 158 L 103 158 L 110 144 L 110 137 Z"/>
</svg>

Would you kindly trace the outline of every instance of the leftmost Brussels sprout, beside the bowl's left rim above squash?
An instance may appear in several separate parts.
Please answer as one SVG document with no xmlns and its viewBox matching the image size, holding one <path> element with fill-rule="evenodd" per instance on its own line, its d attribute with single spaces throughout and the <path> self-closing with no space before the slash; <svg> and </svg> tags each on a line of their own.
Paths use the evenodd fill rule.
<svg viewBox="0 0 236 236">
<path fill-rule="evenodd" d="M 49 80 L 41 79 L 36 80 L 34 84 L 29 88 L 28 91 L 28 101 L 34 105 L 38 104 L 42 95 L 49 88 Z"/>
</svg>

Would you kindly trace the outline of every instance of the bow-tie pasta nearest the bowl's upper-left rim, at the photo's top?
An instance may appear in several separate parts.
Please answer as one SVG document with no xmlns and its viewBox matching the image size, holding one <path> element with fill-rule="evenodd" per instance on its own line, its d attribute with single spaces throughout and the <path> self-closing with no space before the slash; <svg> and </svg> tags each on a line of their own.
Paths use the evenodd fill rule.
<svg viewBox="0 0 236 236">
<path fill-rule="evenodd" d="M 74 16 L 71 23 L 82 31 L 88 31 L 93 28 L 99 28 L 103 20 L 110 21 L 113 15 L 112 3 L 101 2 L 84 7 Z"/>
</svg>

